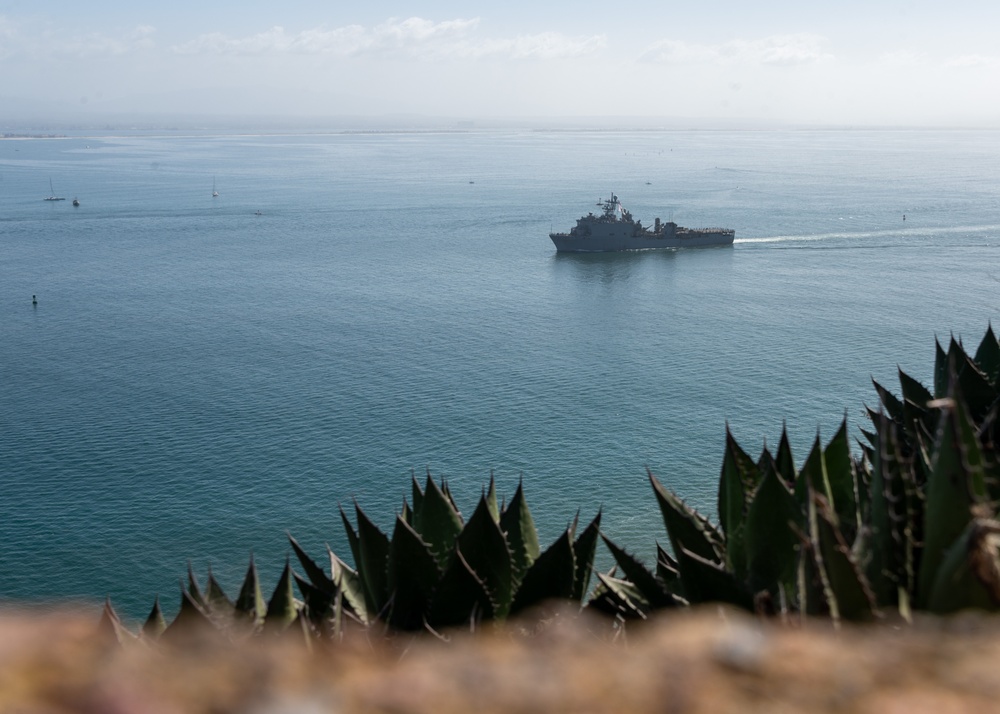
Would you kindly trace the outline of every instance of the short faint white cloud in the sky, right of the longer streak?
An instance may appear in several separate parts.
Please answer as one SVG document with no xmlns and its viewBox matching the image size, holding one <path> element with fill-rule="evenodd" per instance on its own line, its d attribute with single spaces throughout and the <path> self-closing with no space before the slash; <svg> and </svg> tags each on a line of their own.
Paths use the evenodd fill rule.
<svg viewBox="0 0 1000 714">
<path fill-rule="evenodd" d="M 788 66 L 814 64 L 833 58 L 823 50 L 820 35 L 772 35 L 757 40 L 732 40 L 719 44 L 699 44 L 681 40 L 661 40 L 650 45 L 640 62 L 654 64 L 758 64 Z"/>
</svg>

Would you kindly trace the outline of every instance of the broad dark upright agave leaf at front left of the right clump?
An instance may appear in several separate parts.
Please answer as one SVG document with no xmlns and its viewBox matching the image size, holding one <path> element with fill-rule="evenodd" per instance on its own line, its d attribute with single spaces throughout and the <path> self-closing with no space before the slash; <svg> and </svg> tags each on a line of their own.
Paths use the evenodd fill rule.
<svg viewBox="0 0 1000 714">
<path fill-rule="evenodd" d="M 767 589 L 776 595 L 779 586 L 789 592 L 794 589 L 803 521 L 802 510 L 784 481 L 766 468 L 747 512 L 747 582 L 754 592 Z"/>
</svg>

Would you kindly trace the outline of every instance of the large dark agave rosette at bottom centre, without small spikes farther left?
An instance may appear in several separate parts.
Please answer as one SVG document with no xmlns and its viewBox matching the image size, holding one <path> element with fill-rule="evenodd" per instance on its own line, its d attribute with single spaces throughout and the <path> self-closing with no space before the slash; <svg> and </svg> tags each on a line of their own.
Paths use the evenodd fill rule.
<svg viewBox="0 0 1000 714">
<path fill-rule="evenodd" d="M 576 534 L 577 520 L 544 552 L 519 484 L 497 505 L 493 480 L 463 520 L 447 483 L 412 481 L 389 537 L 355 504 L 341 510 L 351 568 L 329 551 L 330 573 L 289 537 L 306 578 L 298 578 L 310 621 L 327 631 L 344 617 L 399 630 L 437 630 L 504 620 L 551 599 L 581 602 L 590 581 L 601 514 Z"/>
</svg>

